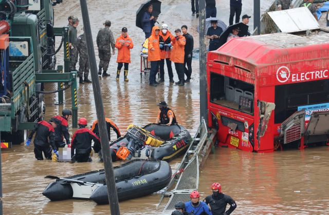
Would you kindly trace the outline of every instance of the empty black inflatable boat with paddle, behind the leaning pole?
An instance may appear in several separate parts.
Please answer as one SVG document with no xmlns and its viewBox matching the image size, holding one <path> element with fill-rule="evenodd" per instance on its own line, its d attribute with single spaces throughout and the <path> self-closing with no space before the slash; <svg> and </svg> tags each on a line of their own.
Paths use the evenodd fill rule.
<svg viewBox="0 0 329 215">
<path fill-rule="evenodd" d="M 162 160 L 134 159 L 113 169 L 119 201 L 157 192 L 171 179 L 171 167 Z M 108 204 L 104 170 L 58 178 L 42 194 L 52 201 L 92 199 L 97 204 Z"/>
</svg>

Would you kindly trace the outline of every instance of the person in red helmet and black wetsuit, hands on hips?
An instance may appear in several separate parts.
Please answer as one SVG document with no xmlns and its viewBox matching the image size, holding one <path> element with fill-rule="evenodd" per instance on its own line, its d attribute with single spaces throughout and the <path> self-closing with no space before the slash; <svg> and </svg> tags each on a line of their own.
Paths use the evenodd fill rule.
<svg viewBox="0 0 329 215">
<path fill-rule="evenodd" d="M 210 205 L 213 214 L 229 215 L 236 208 L 235 201 L 229 195 L 222 193 L 222 185 L 220 183 L 213 183 L 211 186 L 212 195 L 208 195 L 204 202 Z M 227 204 L 231 207 L 226 210 Z"/>
</svg>

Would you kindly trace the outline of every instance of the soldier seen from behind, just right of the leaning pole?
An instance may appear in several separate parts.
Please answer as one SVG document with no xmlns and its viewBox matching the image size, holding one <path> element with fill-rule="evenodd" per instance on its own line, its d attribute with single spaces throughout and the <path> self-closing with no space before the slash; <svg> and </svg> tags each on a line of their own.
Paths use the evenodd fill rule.
<svg viewBox="0 0 329 215">
<path fill-rule="evenodd" d="M 98 56 L 100 59 L 98 75 L 102 75 L 103 68 L 103 77 L 109 76 L 106 71 L 108 68 L 109 60 L 111 59 L 111 46 L 113 50 L 112 54 L 115 54 L 115 40 L 113 38 L 112 31 L 109 30 L 109 27 L 111 26 L 111 21 L 106 20 L 104 25 L 105 28 L 100 29 L 97 34 Z"/>
</svg>

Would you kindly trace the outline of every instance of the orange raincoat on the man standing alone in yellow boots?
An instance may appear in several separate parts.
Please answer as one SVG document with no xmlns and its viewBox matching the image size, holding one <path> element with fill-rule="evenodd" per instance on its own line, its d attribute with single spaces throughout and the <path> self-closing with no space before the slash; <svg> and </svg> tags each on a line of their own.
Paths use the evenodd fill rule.
<svg viewBox="0 0 329 215">
<path fill-rule="evenodd" d="M 121 45 L 121 43 L 129 44 L 129 46 Z M 115 42 L 115 47 L 118 49 L 117 63 L 131 63 L 130 62 L 130 49 L 134 48 L 132 39 L 128 36 L 123 37 L 121 34 Z"/>
</svg>

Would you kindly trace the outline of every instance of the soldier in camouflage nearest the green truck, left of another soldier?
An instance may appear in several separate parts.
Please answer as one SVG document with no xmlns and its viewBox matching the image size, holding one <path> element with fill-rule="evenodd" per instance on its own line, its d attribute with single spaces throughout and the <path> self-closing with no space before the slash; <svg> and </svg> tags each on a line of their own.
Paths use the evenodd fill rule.
<svg viewBox="0 0 329 215">
<path fill-rule="evenodd" d="M 79 20 L 77 17 L 74 17 L 72 20 L 72 26 L 69 33 L 69 47 L 70 47 L 70 71 L 76 71 L 76 58 L 78 58 L 78 49 L 77 49 L 77 26 L 79 25 Z"/>
</svg>

